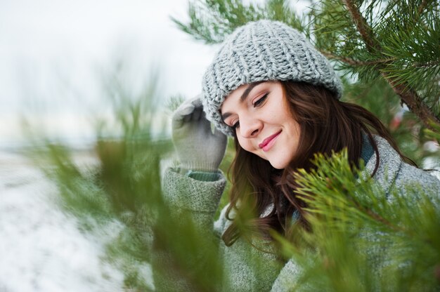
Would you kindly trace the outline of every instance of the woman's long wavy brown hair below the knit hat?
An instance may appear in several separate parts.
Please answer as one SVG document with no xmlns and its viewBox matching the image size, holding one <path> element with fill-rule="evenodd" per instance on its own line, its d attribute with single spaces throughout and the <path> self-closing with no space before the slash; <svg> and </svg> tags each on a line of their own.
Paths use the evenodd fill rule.
<svg viewBox="0 0 440 292">
<path fill-rule="evenodd" d="M 313 168 L 311 158 L 318 152 L 330 156 L 332 151 L 347 148 L 351 166 L 358 166 L 365 133 L 377 157 L 374 175 L 380 159 L 373 140 L 373 134 L 377 134 L 408 161 L 387 128 L 368 110 L 337 100 L 334 93 L 321 86 L 292 81 L 280 81 L 280 84 L 292 117 L 301 128 L 298 149 L 290 164 L 279 170 L 268 161 L 243 150 L 235 135 L 235 159 L 228 172 L 232 183 L 230 205 L 226 211 L 226 218 L 233 223 L 222 236 L 226 246 L 240 236 L 249 239 L 248 236 L 255 232 L 267 239 L 271 238 L 270 230 L 286 234 L 295 211 L 299 215 L 297 224 L 309 227 L 304 216 L 306 203 L 295 195 L 297 185 L 293 173 L 298 168 Z M 271 212 L 264 213 L 272 203 L 274 208 Z"/>
</svg>

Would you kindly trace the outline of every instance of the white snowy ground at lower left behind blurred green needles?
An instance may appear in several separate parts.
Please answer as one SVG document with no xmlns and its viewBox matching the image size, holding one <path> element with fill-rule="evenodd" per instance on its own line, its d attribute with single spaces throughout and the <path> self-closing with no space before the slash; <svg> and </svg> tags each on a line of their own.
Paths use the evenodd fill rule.
<svg viewBox="0 0 440 292">
<path fill-rule="evenodd" d="M 102 244 L 79 232 L 54 194 L 27 159 L 0 151 L 0 291 L 122 291 Z"/>
</svg>

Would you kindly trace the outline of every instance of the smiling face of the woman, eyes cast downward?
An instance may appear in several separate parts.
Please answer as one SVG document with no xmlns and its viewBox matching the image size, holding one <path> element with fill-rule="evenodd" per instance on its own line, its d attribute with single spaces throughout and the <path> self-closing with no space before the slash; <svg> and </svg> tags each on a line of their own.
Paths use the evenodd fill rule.
<svg viewBox="0 0 440 292">
<path fill-rule="evenodd" d="M 297 152 L 299 124 L 293 119 L 280 82 L 244 84 L 221 105 L 221 117 L 237 134 L 240 146 L 274 168 L 285 168 Z"/>
</svg>

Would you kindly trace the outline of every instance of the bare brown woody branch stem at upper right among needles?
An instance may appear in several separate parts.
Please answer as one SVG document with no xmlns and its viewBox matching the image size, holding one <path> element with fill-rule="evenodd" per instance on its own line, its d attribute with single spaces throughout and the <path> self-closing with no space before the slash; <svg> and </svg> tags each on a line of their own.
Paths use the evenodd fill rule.
<svg viewBox="0 0 440 292">
<path fill-rule="evenodd" d="M 426 1 L 424 1 L 425 3 Z M 361 34 L 361 37 L 367 46 L 367 50 L 370 53 L 380 53 L 383 55 L 382 48 L 380 46 L 379 41 L 375 39 L 373 29 L 368 25 L 368 22 L 363 18 L 361 11 L 359 11 L 358 7 L 354 4 L 353 0 L 344 0 L 344 4 L 347 6 L 347 10 L 349 11 L 351 18 L 353 19 L 358 32 Z M 420 9 L 422 10 L 425 5 L 422 3 Z M 386 66 L 389 64 L 388 62 L 384 62 L 383 65 L 379 66 L 377 69 L 380 70 L 382 77 L 388 82 L 390 86 L 392 86 L 394 92 L 401 97 L 402 102 L 408 105 L 408 108 L 411 112 L 416 114 L 419 119 L 427 126 L 427 128 L 432 128 L 430 121 L 440 124 L 439 117 L 436 117 L 434 113 L 425 105 L 415 91 L 408 86 L 406 82 L 396 81 L 393 77 L 391 77 L 389 73 L 387 73 Z"/>
</svg>

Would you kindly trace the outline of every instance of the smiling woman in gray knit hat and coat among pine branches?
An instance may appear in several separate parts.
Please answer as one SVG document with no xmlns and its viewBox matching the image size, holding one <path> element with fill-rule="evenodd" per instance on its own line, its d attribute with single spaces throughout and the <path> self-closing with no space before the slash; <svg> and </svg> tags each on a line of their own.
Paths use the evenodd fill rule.
<svg viewBox="0 0 440 292">
<path fill-rule="evenodd" d="M 304 36 L 281 22 L 260 20 L 228 36 L 204 75 L 201 100 L 189 100 L 174 113 L 181 165 L 166 171 L 164 192 L 200 226 L 212 226 L 224 190 L 218 171 L 224 134 L 235 140 L 230 204 L 214 223 L 222 239 L 224 291 L 283 291 L 295 279 L 295 264 L 280 265 L 266 243 L 269 230 L 287 234 L 293 222 L 307 226 L 292 173 L 313 168 L 310 159 L 317 152 L 347 147 L 350 163 L 358 166 L 363 159 L 365 173 L 387 193 L 404 192 L 411 182 L 440 190 L 439 180 L 405 162 L 373 114 L 340 102 L 341 95 L 328 60 Z"/>
</svg>

